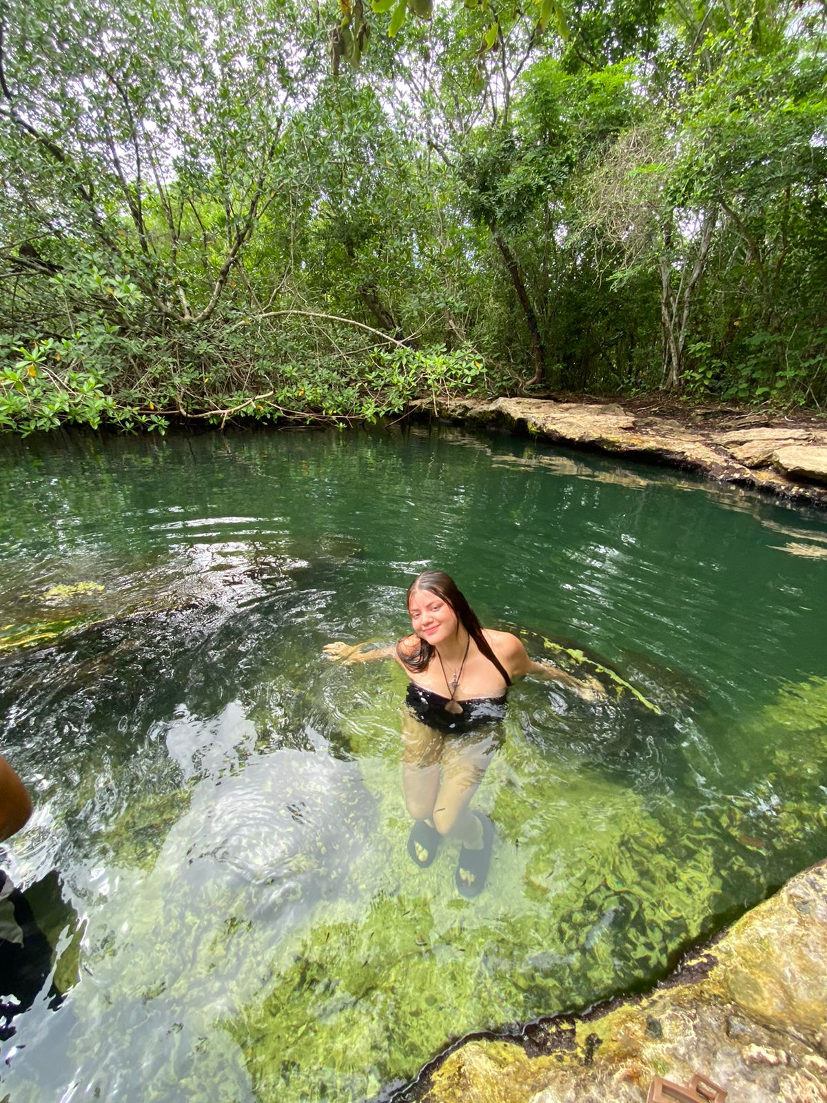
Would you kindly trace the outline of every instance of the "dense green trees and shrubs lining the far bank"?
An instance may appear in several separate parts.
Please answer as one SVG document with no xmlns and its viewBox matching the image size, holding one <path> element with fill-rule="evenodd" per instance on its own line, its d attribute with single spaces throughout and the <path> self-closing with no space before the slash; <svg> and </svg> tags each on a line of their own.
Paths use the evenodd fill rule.
<svg viewBox="0 0 827 1103">
<path fill-rule="evenodd" d="M 10 0 L 0 430 L 824 410 L 826 32 L 798 0 Z"/>
</svg>

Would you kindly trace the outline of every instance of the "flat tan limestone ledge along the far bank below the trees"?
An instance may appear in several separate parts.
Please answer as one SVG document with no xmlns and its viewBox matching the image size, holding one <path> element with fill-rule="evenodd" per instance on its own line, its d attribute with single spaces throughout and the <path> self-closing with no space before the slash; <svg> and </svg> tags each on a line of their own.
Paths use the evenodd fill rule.
<svg viewBox="0 0 827 1103">
<path fill-rule="evenodd" d="M 781 497 L 827 506 L 827 421 L 821 428 L 755 424 L 733 416 L 713 426 L 640 416 L 616 403 L 540 398 L 442 399 L 414 413 L 522 428 L 548 440 L 651 459 Z M 760 421 L 760 417 L 758 417 Z M 744 424 L 744 421 L 749 424 Z"/>
</svg>

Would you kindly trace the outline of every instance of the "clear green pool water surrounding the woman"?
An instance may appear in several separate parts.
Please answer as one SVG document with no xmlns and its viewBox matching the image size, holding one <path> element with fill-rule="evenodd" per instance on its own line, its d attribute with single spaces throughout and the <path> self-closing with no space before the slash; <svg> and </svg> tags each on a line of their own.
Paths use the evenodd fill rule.
<svg viewBox="0 0 827 1103">
<path fill-rule="evenodd" d="M 651 984 L 827 853 L 827 518 L 451 430 L 6 442 L 0 866 L 55 945 L 12 1103 L 363 1100 L 451 1039 Z M 393 640 L 426 566 L 525 681 L 457 846 L 406 850 Z M 582 649 L 584 656 L 559 651 Z M 55 1009 L 55 989 L 65 993 Z"/>
</svg>

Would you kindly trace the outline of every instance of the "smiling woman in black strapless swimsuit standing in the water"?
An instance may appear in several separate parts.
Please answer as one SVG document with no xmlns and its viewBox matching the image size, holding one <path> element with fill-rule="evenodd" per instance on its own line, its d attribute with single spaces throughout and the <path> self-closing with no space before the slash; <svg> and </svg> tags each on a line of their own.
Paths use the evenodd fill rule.
<svg viewBox="0 0 827 1103">
<path fill-rule="evenodd" d="M 366 651 L 340 642 L 324 652 L 347 664 L 393 657 L 409 675 L 402 719 L 402 786 L 414 817 L 408 853 L 425 868 L 445 836 L 458 838 L 457 888 L 474 897 L 487 876 L 494 825 L 469 805 L 500 745 L 508 686 L 534 674 L 590 699 L 603 688 L 593 678 L 579 682 L 551 663 L 534 662 L 511 632 L 484 629 L 442 570 L 414 579 L 408 613 L 414 631 L 395 646 Z"/>
</svg>

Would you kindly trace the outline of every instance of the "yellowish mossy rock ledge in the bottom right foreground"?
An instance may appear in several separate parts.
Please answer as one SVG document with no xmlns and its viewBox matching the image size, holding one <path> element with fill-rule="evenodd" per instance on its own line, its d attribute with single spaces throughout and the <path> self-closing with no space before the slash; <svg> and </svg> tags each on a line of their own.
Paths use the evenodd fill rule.
<svg viewBox="0 0 827 1103">
<path fill-rule="evenodd" d="M 727 1103 L 827 1101 L 827 860 L 792 878 L 651 995 L 472 1040 L 420 1079 L 425 1103 L 645 1103 L 698 1072 Z"/>
</svg>

